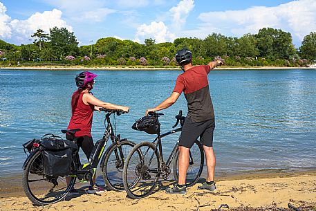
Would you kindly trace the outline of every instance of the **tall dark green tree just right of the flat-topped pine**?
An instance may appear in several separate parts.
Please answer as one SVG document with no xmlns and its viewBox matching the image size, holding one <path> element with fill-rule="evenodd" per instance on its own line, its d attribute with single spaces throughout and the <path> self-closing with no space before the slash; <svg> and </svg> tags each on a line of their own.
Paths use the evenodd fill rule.
<svg viewBox="0 0 316 211">
<path fill-rule="evenodd" d="M 66 28 L 50 28 L 50 47 L 53 54 L 59 59 L 64 59 L 66 55 L 76 56 L 79 53 L 77 38 L 74 33 Z"/>
</svg>

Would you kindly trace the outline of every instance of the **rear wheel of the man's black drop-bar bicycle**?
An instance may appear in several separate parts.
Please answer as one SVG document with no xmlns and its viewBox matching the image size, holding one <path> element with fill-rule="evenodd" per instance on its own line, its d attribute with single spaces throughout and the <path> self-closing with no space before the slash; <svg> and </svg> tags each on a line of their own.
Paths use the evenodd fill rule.
<svg viewBox="0 0 316 211">
<path fill-rule="evenodd" d="M 144 142 L 133 147 L 123 169 L 123 184 L 128 196 L 131 199 L 148 196 L 154 192 L 159 176 L 160 160 L 154 144 Z"/>
</svg>

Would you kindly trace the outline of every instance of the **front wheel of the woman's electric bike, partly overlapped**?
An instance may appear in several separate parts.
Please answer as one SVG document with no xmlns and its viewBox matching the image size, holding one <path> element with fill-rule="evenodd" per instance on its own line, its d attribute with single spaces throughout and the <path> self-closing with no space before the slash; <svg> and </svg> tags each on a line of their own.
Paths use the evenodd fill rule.
<svg viewBox="0 0 316 211">
<path fill-rule="evenodd" d="M 103 163 L 101 163 L 101 171 L 102 176 L 104 179 L 104 183 L 106 184 L 106 187 L 109 188 L 109 190 L 115 190 L 115 191 L 123 191 L 124 185 L 123 185 L 123 179 L 122 179 L 122 172 L 124 167 L 124 161 L 126 160 L 129 152 L 136 144 L 129 141 L 129 140 L 123 140 L 120 142 L 120 146 L 113 143 L 107 150 L 105 154 L 105 158 Z M 129 150 L 127 151 L 125 147 L 129 146 Z M 115 149 L 118 149 L 118 147 L 122 147 L 124 160 L 122 160 L 119 152 L 119 160 L 115 155 Z M 125 148 L 125 149 L 123 149 Z M 115 167 L 110 167 L 109 163 L 113 163 Z M 117 175 L 119 174 L 119 175 Z"/>
</svg>

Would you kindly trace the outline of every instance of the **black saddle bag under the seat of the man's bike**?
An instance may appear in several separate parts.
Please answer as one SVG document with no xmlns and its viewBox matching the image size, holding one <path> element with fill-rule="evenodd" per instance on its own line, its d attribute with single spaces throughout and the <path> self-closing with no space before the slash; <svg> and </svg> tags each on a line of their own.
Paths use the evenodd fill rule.
<svg viewBox="0 0 316 211">
<path fill-rule="evenodd" d="M 138 131 L 145 131 L 147 134 L 160 133 L 160 123 L 156 116 L 144 116 L 136 120 L 131 128 Z"/>
</svg>

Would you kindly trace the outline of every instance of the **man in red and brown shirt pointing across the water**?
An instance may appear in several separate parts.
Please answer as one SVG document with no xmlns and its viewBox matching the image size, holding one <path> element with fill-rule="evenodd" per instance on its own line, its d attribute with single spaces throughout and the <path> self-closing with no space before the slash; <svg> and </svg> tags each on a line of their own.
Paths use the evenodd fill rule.
<svg viewBox="0 0 316 211">
<path fill-rule="evenodd" d="M 179 138 L 178 184 L 174 187 L 168 187 L 166 192 L 169 194 L 186 194 L 185 178 L 189 167 L 189 149 L 198 137 L 200 137 L 203 145 L 207 165 L 207 181 L 198 188 L 214 191 L 216 190 L 214 183 L 216 159 L 213 152 L 215 120 L 207 74 L 223 62 L 216 60 L 216 62 L 210 62 L 207 65 L 193 66 L 192 53 L 185 48 L 176 53 L 176 61 L 184 73 L 178 75 L 174 91 L 169 98 L 157 107 L 146 111 L 147 115 L 149 111 L 167 109 L 178 100 L 180 94 L 184 91 L 188 113 Z"/>
</svg>

